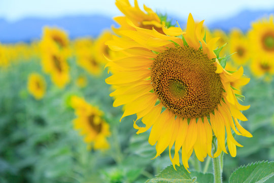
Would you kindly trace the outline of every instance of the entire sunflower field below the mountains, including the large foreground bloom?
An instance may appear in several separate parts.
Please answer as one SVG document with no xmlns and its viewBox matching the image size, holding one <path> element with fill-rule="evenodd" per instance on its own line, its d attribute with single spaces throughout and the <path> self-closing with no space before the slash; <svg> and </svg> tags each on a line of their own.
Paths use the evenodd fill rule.
<svg viewBox="0 0 274 183">
<path fill-rule="evenodd" d="M 113 8 L 97 37 L 0 43 L 0 182 L 274 182 L 274 14 Z"/>
</svg>

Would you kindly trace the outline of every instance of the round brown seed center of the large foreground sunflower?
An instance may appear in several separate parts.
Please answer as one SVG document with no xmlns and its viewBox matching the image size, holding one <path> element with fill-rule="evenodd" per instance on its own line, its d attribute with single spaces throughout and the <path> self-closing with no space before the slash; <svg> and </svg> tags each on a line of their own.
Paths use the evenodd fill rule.
<svg viewBox="0 0 274 183">
<path fill-rule="evenodd" d="M 214 60 L 202 50 L 176 47 L 159 53 L 151 67 L 155 94 L 163 106 L 184 118 L 207 116 L 222 98 Z"/>
</svg>

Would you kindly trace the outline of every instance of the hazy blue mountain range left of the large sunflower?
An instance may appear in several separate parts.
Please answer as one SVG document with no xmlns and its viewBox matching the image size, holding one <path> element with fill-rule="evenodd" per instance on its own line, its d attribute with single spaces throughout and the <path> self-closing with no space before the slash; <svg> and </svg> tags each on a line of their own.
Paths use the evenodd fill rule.
<svg viewBox="0 0 274 183">
<path fill-rule="evenodd" d="M 111 18 L 100 15 L 55 19 L 25 18 L 12 23 L 0 19 L 0 42 L 30 42 L 40 39 L 45 25 L 64 29 L 71 39 L 84 36 L 97 37 L 102 30 L 110 29 L 111 25 L 115 24 Z"/>
</svg>

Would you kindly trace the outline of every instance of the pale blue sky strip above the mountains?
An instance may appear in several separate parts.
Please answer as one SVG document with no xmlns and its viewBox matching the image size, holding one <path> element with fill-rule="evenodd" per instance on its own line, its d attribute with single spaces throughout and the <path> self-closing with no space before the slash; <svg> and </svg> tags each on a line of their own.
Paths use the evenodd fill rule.
<svg viewBox="0 0 274 183">
<path fill-rule="evenodd" d="M 133 4 L 134 0 L 130 0 Z M 233 16 L 244 9 L 273 10 L 273 0 L 139 0 L 153 10 L 173 14 L 182 19 L 191 12 L 195 19 L 212 22 Z M 24 17 L 62 17 L 101 14 L 109 17 L 120 15 L 115 0 L 0 0 L 0 18 L 16 21 Z"/>
</svg>

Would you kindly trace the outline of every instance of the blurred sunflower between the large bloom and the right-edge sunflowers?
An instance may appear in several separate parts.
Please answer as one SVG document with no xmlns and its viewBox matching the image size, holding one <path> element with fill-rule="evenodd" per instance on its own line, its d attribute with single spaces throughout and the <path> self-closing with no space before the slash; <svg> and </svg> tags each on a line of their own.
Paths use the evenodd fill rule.
<svg viewBox="0 0 274 183">
<path fill-rule="evenodd" d="M 250 59 L 249 43 L 245 35 L 238 29 L 233 29 L 229 40 L 231 57 L 238 66 L 246 65 Z"/>
</svg>

